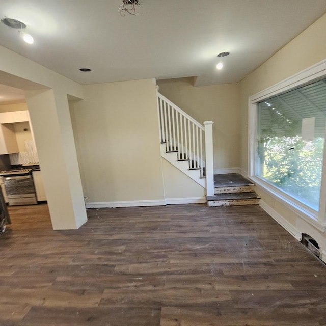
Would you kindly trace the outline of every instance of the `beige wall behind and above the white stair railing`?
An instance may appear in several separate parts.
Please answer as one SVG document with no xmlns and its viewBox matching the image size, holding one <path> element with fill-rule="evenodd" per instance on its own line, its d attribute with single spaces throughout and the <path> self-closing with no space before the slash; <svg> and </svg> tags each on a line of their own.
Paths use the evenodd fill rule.
<svg viewBox="0 0 326 326">
<path fill-rule="evenodd" d="M 214 170 L 240 167 L 239 85 L 193 86 L 193 78 L 157 80 L 166 96 L 198 122 L 212 120 Z"/>
</svg>

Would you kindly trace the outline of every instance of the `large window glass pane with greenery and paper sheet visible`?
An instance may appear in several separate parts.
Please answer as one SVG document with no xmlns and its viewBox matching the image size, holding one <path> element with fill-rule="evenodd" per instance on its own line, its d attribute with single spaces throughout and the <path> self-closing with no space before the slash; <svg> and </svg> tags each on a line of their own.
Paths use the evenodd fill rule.
<svg viewBox="0 0 326 326">
<path fill-rule="evenodd" d="M 318 211 L 326 79 L 257 104 L 255 175 Z"/>
</svg>

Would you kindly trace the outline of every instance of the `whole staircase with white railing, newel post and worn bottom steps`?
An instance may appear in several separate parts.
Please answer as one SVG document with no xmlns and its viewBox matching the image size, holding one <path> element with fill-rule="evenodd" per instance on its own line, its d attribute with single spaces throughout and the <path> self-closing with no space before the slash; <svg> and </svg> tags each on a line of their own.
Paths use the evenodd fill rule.
<svg viewBox="0 0 326 326">
<path fill-rule="evenodd" d="M 240 174 L 214 175 L 212 121 L 200 124 L 157 93 L 161 156 L 206 189 L 208 206 L 256 205 L 255 185 Z"/>
</svg>

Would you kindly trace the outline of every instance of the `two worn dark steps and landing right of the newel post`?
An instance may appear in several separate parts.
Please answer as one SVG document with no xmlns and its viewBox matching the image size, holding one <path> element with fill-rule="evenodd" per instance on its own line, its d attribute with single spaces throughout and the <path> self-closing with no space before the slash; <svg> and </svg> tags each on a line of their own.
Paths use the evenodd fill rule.
<svg viewBox="0 0 326 326">
<path fill-rule="evenodd" d="M 214 175 L 214 193 L 206 196 L 210 207 L 258 205 L 260 199 L 255 193 L 255 184 L 239 173 Z"/>
</svg>

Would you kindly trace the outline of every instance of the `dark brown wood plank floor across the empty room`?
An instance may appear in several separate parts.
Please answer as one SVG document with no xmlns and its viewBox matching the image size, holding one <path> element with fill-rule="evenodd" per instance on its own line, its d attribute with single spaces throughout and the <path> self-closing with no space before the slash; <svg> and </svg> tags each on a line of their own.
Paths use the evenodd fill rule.
<svg viewBox="0 0 326 326">
<path fill-rule="evenodd" d="M 9 207 L 0 325 L 326 325 L 326 267 L 258 206 Z"/>
</svg>

